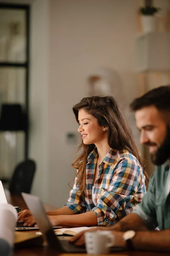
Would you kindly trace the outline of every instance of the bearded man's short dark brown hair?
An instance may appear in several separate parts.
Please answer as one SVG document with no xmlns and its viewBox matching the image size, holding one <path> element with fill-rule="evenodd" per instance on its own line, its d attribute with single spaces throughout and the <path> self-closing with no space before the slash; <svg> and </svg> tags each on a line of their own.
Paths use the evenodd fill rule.
<svg viewBox="0 0 170 256">
<path fill-rule="evenodd" d="M 170 111 L 170 85 L 160 86 L 136 98 L 130 104 L 133 111 L 154 105 L 159 111 Z"/>
</svg>

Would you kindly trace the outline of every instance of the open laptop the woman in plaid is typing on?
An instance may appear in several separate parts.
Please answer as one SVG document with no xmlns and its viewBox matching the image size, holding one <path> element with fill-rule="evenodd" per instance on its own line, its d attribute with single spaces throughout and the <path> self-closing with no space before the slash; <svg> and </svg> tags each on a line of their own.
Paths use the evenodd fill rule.
<svg viewBox="0 0 170 256">
<path fill-rule="evenodd" d="M 5 195 L 5 191 L 4 191 L 4 188 L 3 188 L 3 183 L 2 183 L 1 180 L 0 180 L 0 204 L 8 204 L 7 199 L 6 199 L 6 195 Z M 15 230 L 16 231 L 39 230 L 39 227 L 34 227 L 34 225 L 31 226 L 31 227 L 24 227 L 23 224 L 24 223 L 17 222 Z M 57 228 L 61 228 L 61 226 L 56 226 L 56 227 L 53 227 L 53 228 L 57 229 Z"/>
</svg>

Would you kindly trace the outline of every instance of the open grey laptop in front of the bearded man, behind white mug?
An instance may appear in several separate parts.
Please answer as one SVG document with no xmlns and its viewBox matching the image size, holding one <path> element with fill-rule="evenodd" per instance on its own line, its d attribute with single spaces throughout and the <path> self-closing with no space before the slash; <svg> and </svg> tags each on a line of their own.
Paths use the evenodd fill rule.
<svg viewBox="0 0 170 256">
<path fill-rule="evenodd" d="M 35 195 L 30 195 L 27 193 L 21 193 L 24 201 L 26 202 L 28 208 L 30 209 L 32 215 L 37 222 L 40 231 L 48 243 L 49 247 L 56 250 L 58 253 L 86 253 L 85 246 L 78 247 L 71 244 L 69 240 L 58 239 L 54 233 L 51 223 L 46 215 L 45 209 L 43 207 L 40 199 Z M 112 247 L 111 251 L 123 250 L 122 247 Z"/>
</svg>

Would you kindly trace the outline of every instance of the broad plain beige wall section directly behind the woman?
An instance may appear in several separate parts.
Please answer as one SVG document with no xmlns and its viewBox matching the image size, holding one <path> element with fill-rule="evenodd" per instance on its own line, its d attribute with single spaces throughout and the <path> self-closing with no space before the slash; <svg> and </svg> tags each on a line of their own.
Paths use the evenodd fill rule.
<svg viewBox="0 0 170 256">
<path fill-rule="evenodd" d="M 77 124 L 71 108 L 86 95 L 86 79 L 104 66 L 117 70 L 120 93 L 130 102 L 136 96 L 134 44 L 136 0 L 50 0 L 49 71 L 49 201 L 62 206 L 68 198 L 70 164 L 75 145 L 68 131 Z"/>
</svg>

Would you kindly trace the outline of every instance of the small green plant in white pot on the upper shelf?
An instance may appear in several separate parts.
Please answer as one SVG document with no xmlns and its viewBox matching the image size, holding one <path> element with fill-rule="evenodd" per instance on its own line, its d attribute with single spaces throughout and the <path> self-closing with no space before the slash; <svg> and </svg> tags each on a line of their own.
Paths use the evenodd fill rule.
<svg viewBox="0 0 170 256">
<path fill-rule="evenodd" d="M 139 9 L 139 13 L 142 21 L 142 28 L 144 33 L 156 31 L 156 16 L 155 14 L 159 12 L 160 8 L 154 6 L 145 6 Z"/>
</svg>

